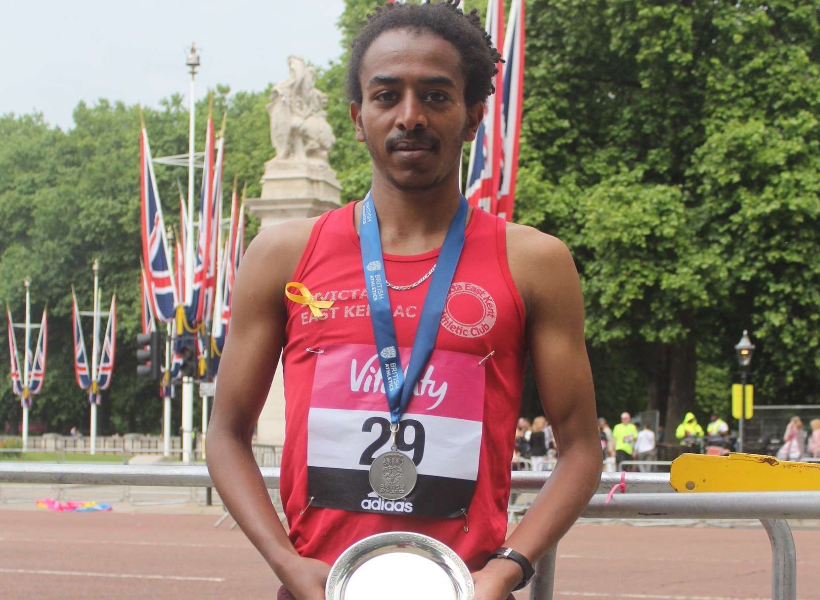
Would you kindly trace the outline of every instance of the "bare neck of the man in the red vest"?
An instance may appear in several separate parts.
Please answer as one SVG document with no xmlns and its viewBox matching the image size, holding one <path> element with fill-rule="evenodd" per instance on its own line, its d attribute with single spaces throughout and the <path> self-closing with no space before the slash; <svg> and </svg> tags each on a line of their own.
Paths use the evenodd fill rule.
<svg viewBox="0 0 820 600">
<path fill-rule="evenodd" d="M 458 180 L 429 190 L 403 190 L 374 176 L 372 185 L 383 252 L 414 255 L 441 246 L 461 199 Z"/>
</svg>

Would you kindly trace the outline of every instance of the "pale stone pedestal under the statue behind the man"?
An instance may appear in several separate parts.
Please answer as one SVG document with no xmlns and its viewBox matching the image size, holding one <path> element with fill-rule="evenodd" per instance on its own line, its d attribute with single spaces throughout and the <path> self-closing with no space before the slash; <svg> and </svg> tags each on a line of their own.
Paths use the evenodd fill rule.
<svg viewBox="0 0 820 600">
<path fill-rule="evenodd" d="M 265 163 L 262 198 L 247 198 L 248 210 L 261 221 L 260 230 L 287 220 L 319 216 L 341 206 L 333 169 L 325 161 L 273 158 Z M 257 443 L 285 441 L 285 386 L 282 363 L 276 366 L 265 406 L 257 422 Z"/>
</svg>

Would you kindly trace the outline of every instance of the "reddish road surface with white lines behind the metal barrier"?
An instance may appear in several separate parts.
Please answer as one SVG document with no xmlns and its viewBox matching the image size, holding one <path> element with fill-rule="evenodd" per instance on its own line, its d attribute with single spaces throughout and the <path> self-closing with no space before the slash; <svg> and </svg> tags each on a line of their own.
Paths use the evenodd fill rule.
<svg viewBox="0 0 820 600">
<path fill-rule="evenodd" d="M 0 511 L 2 597 L 275 598 L 275 576 L 238 529 L 214 529 L 214 514 L 166 511 Z M 820 598 L 820 530 L 794 534 L 798 598 Z M 558 547 L 555 598 L 771 598 L 768 537 L 759 527 L 579 524 Z"/>
</svg>

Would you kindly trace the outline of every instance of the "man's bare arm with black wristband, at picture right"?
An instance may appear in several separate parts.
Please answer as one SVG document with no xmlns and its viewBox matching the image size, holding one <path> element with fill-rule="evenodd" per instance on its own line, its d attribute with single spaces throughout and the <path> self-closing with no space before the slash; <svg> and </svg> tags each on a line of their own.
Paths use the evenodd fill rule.
<svg viewBox="0 0 820 600">
<path fill-rule="evenodd" d="M 600 478 L 601 447 L 575 263 L 558 239 L 510 227 L 510 269 L 525 301 L 535 380 L 558 446 L 558 463 L 548 483 L 505 544 L 535 562 L 558 543 L 589 502 Z M 490 561 L 490 568 L 503 571 L 500 576 L 505 572 L 513 585 L 521 580 L 521 570 L 512 561 Z"/>
</svg>

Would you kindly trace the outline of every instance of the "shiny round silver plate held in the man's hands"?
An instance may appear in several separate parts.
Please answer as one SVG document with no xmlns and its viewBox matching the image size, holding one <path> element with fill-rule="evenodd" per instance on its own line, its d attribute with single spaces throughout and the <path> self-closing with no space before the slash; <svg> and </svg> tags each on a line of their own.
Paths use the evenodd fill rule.
<svg viewBox="0 0 820 600">
<path fill-rule="evenodd" d="M 330 567 L 326 600 L 472 600 L 467 565 L 437 539 L 408 531 L 371 535 Z"/>
</svg>

